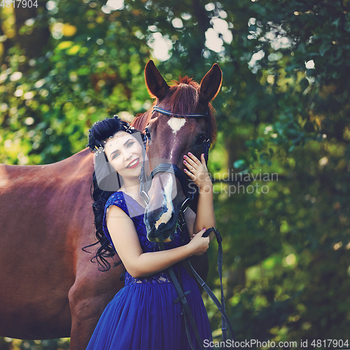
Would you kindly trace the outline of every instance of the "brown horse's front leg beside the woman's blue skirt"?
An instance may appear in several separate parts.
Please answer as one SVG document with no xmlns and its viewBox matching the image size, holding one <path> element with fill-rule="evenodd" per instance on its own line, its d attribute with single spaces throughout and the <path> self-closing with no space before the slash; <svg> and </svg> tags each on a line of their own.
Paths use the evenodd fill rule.
<svg viewBox="0 0 350 350">
<path fill-rule="evenodd" d="M 69 290 L 71 350 L 85 350 L 104 308 L 124 286 L 119 279 L 124 271 L 123 265 L 108 272 L 99 272 L 96 263 L 90 260 L 84 263 L 85 266 L 90 265 L 87 265 L 89 269 L 85 269 L 83 274 L 77 273 L 77 279 Z"/>
</svg>

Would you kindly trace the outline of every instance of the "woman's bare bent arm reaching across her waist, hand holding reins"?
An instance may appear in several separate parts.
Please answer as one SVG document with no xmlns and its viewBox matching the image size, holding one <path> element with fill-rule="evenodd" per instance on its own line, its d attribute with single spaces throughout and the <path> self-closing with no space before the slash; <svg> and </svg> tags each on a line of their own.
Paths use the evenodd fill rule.
<svg viewBox="0 0 350 350">
<path fill-rule="evenodd" d="M 127 272 L 135 278 L 160 272 L 192 255 L 202 255 L 209 246 L 209 238 L 202 237 L 204 233 L 202 230 L 185 246 L 167 251 L 144 253 L 134 223 L 122 209 L 116 206 L 109 207 L 107 228 Z"/>
</svg>

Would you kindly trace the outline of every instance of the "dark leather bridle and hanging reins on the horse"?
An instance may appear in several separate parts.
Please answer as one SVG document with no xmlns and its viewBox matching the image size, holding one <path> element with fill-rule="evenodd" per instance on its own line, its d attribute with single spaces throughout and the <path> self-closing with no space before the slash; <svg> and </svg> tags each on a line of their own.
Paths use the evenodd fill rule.
<svg viewBox="0 0 350 350">
<path fill-rule="evenodd" d="M 152 113 L 154 113 L 154 112 L 162 113 L 165 116 L 168 116 L 169 118 L 174 117 L 174 118 L 206 118 L 207 120 L 209 119 L 208 113 L 205 113 L 205 114 L 204 113 L 178 114 L 178 113 L 172 113 L 171 111 L 167 111 L 166 109 L 162 109 L 158 106 L 153 107 Z M 144 159 L 146 159 L 146 148 L 147 148 L 148 141 L 151 141 L 151 134 L 146 129 L 145 137 L 144 137 Z M 209 137 L 209 123 L 208 123 L 207 138 L 203 141 L 203 153 L 204 153 L 204 159 L 205 159 L 206 164 L 208 162 L 208 154 L 209 154 L 210 144 L 211 144 L 211 140 Z M 186 177 L 185 174 L 183 174 L 183 172 L 181 171 L 181 169 L 179 169 L 179 167 L 177 167 L 174 164 L 160 163 L 152 170 L 151 174 L 146 176 L 146 172 L 145 172 L 144 164 L 143 164 L 142 168 L 141 168 L 141 174 L 139 176 L 140 195 L 142 198 L 144 198 L 144 201 L 147 205 L 150 202 L 150 199 L 148 197 L 148 190 L 149 190 L 149 188 L 151 188 L 151 182 L 157 174 L 160 174 L 163 172 L 169 172 L 169 173 L 174 174 L 174 176 L 176 176 L 176 179 L 178 179 L 179 182 L 181 183 L 183 193 L 186 195 L 186 200 L 184 200 L 183 203 L 181 204 L 181 208 L 179 210 L 178 222 L 176 223 L 176 225 L 180 226 L 180 229 L 182 232 L 183 225 L 186 225 L 185 218 L 184 218 L 183 214 L 185 213 L 186 209 L 188 209 L 188 207 L 190 206 L 190 202 L 194 198 L 195 191 L 190 191 L 188 189 L 188 187 L 189 187 L 188 186 L 188 178 Z M 208 237 L 209 234 L 213 231 L 216 235 L 216 240 L 218 241 L 218 274 L 219 274 L 220 283 L 221 283 L 221 302 L 218 300 L 216 295 L 214 295 L 212 290 L 207 286 L 207 283 L 205 283 L 202 280 L 202 278 L 200 277 L 200 275 L 197 274 L 197 272 L 195 271 L 195 269 L 191 265 L 189 259 L 188 259 L 188 265 L 190 266 L 190 269 L 192 270 L 193 275 L 195 276 L 197 281 L 200 283 L 202 288 L 204 288 L 204 290 L 206 290 L 209 297 L 211 297 L 211 300 L 214 301 L 214 303 L 218 307 L 219 311 L 221 311 L 221 315 L 222 315 L 222 328 L 221 328 L 221 330 L 223 332 L 223 342 L 226 343 L 226 339 L 227 339 L 226 325 L 228 325 L 228 327 L 230 328 L 230 333 L 232 335 L 232 339 L 234 339 L 234 340 L 235 340 L 235 335 L 234 335 L 234 332 L 232 329 L 232 325 L 231 325 L 231 323 L 228 319 L 228 316 L 225 312 L 225 298 L 223 295 L 223 282 L 222 282 L 222 269 L 223 269 L 223 248 L 222 248 L 222 244 L 221 244 L 222 238 L 221 238 L 220 232 L 218 232 L 218 230 L 216 230 L 216 228 L 210 228 L 209 230 L 204 232 L 202 237 Z M 162 244 L 158 244 L 158 245 L 162 249 Z M 191 340 L 191 337 L 190 337 L 190 332 L 188 330 L 187 318 L 188 318 L 188 321 L 190 321 L 190 324 L 193 328 L 193 332 L 195 333 L 195 337 L 197 339 L 198 344 L 200 345 L 200 348 L 204 349 L 203 341 L 200 337 L 200 333 L 197 330 L 197 325 L 195 324 L 190 306 L 188 305 L 188 302 L 186 300 L 186 295 L 188 295 L 188 293 L 190 293 L 191 291 L 188 290 L 185 293 L 183 292 L 183 288 L 181 287 L 180 268 L 178 269 L 178 272 L 179 272 L 178 278 L 176 278 L 175 273 L 174 273 L 174 269 L 172 267 L 169 267 L 167 270 L 169 272 L 170 278 L 172 279 L 172 282 L 174 283 L 176 291 L 179 295 L 179 297 L 177 297 L 174 300 L 174 303 L 179 302 L 179 301 L 181 301 L 181 303 L 182 303 L 181 315 L 183 315 L 183 319 L 185 322 L 186 335 L 188 337 L 188 342 L 190 343 L 190 347 L 191 347 L 191 349 L 195 350 L 195 347 L 194 347 L 192 340 Z"/>
</svg>

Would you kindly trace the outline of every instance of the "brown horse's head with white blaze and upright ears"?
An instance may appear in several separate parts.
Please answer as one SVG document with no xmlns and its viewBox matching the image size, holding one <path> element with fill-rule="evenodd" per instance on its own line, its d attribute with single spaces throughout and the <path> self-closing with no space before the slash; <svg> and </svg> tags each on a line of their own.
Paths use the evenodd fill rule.
<svg viewBox="0 0 350 350">
<path fill-rule="evenodd" d="M 149 61 L 145 76 L 148 91 L 156 100 L 143 121 L 137 120 L 134 126 L 145 129 L 148 137 L 146 174 L 149 176 L 166 163 L 175 165 L 186 180 L 184 185 L 184 181 L 179 181 L 181 176 L 175 176 L 174 172 L 156 172 L 148 190 L 150 202 L 144 217 L 147 237 L 150 241 L 171 241 L 179 210 L 188 197 L 183 155 L 191 152 L 200 159 L 204 141 L 215 139 L 216 122 L 209 102 L 220 90 L 222 73 L 218 64 L 214 64 L 200 84 L 185 77 L 169 86 L 153 61 Z"/>
</svg>

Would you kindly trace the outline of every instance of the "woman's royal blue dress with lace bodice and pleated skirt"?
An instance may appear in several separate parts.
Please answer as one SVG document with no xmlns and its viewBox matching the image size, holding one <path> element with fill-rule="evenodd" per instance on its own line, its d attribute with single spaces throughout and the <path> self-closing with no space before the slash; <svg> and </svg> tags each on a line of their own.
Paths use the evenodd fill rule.
<svg viewBox="0 0 350 350">
<path fill-rule="evenodd" d="M 144 252 L 158 251 L 158 245 L 148 241 L 144 224 L 144 208 L 129 195 L 116 192 L 109 197 L 104 211 L 104 234 L 111 241 L 106 226 L 106 209 L 116 205 L 132 218 L 141 248 Z M 183 232 L 184 233 L 184 232 Z M 187 244 L 188 232 L 181 239 L 180 232 L 174 240 L 165 243 L 165 249 Z M 113 243 L 111 241 L 113 246 Z M 186 295 L 195 323 L 202 340 L 212 340 L 209 318 L 202 295 L 184 267 L 174 267 L 178 276 L 180 268 L 183 290 L 191 290 Z M 125 273 L 125 287 L 104 309 L 92 334 L 87 350 L 190 350 L 190 344 L 181 316 L 181 302 L 174 304 L 178 297 L 176 289 L 166 271 L 144 278 L 134 278 Z M 189 322 L 188 322 L 189 324 Z M 190 334 L 195 349 L 200 349 L 190 325 Z M 206 344 L 207 342 L 204 342 Z"/>
</svg>

